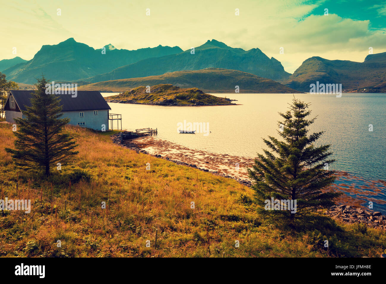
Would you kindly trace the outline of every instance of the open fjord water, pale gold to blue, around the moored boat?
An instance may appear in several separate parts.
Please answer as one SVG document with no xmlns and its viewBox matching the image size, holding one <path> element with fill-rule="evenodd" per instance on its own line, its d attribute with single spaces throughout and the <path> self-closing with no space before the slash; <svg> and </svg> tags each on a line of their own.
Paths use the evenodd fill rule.
<svg viewBox="0 0 386 284">
<path fill-rule="evenodd" d="M 105 93 L 103 96 L 113 95 Z M 278 137 L 278 112 L 285 112 L 293 94 L 213 94 L 236 99 L 240 105 L 170 107 L 110 103 L 110 113 L 122 114 L 122 128 L 158 129 L 158 138 L 179 145 L 235 156 L 255 157 L 266 145 L 262 138 Z M 325 131 L 318 144 L 331 144 L 335 163 L 344 170 L 371 180 L 386 180 L 386 94 L 295 94 L 310 103 L 316 117 L 311 131 Z M 179 134 L 178 122 L 203 122 L 204 133 Z M 373 129 L 369 131 L 369 124 Z M 116 128 L 115 124 L 115 128 Z"/>
</svg>

